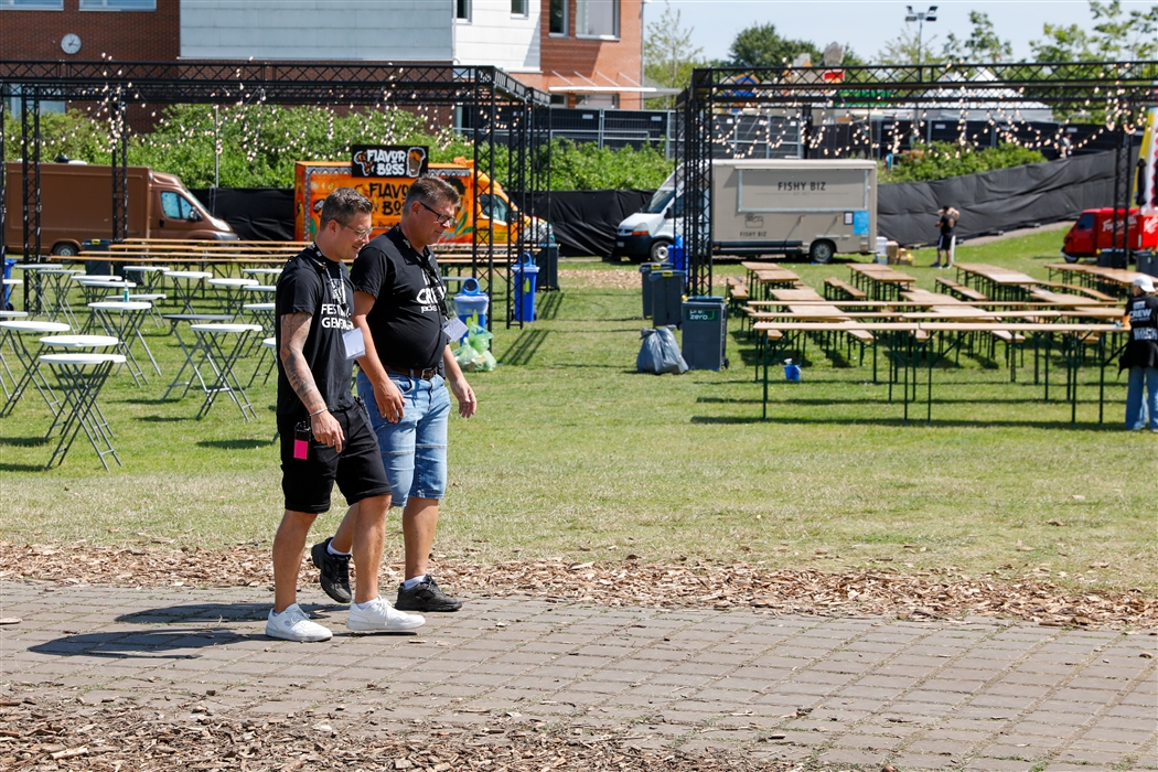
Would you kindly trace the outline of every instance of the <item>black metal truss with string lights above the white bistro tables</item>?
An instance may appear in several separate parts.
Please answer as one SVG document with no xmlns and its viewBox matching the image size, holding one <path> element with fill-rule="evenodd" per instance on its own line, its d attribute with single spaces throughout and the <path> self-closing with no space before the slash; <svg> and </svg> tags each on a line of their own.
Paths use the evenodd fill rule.
<svg viewBox="0 0 1158 772">
<path fill-rule="evenodd" d="M 129 223 L 126 113 L 137 104 L 285 104 L 417 109 L 441 106 L 461 111 L 474 140 L 475 168 L 491 179 L 505 162 L 505 183 L 515 206 L 530 212 L 535 193 L 550 179 L 550 98 L 494 67 L 441 64 L 325 64 L 294 61 L 0 61 L 0 101 L 19 96 L 21 105 L 20 214 L 5 212 L 5 175 L 0 167 L 0 253 L 6 216 L 23 222 L 27 262 L 41 257 L 41 103 L 100 103 L 109 115 L 112 167 L 113 241 L 125 238 Z M 0 106 L 0 157 L 5 124 Z M 7 181 L 12 184 L 12 181 Z M 471 275 L 493 295 L 496 257 L 506 263 L 530 248 L 534 234 L 518 228 L 513 243 L 494 244 L 490 231 L 474 229 Z M 498 255 L 497 255 L 498 253 Z M 512 323 L 511 272 L 506 279 L 507 325 Z M 488 324 L 491 316 L 488 315 Z M 519 325 L 521 326 L 521 322 Z"/>
</svg>

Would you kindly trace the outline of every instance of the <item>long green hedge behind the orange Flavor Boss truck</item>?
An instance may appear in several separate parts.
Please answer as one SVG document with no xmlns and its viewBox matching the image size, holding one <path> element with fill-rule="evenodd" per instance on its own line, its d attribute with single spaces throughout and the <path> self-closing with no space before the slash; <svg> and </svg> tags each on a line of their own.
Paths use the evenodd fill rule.
<svg viewBox="0 0 1158 772">
<path fill-rule="evenodd" d="M 208 188 L 218 142 L 222 188 L 291 188 L 295 161 L 346 160 L 351 145 L 426 145 L 435 163 L 474 156 L 470 142 L 450 128 L 432 127 L 405 110 L 338 115 L 329 108 L 247 105 L 221 109 L 217 122 L 214 131 L 211 105 L 168 106 L 153 132 L 130 140 L 129 162 L 175 174 L 189 188 Z M 20 122 L 10 113 L 5 131 L 6 155 L 20 157 Z M 44 113 L 41 135 L 45 161 L 60 154 L 89 163 L 109 163 L 111 157 L 107 122 L 80 110 Z M 540 153 L 545 163 L 545 148 Z M 510 186 L 506 147 L 497 145 L 494 156 L 498 179 Z M 564 139 L 551 144 L 554 190 L 658 188 L 672 167 L 653 147 L 611 150 Z"/>
</svg>

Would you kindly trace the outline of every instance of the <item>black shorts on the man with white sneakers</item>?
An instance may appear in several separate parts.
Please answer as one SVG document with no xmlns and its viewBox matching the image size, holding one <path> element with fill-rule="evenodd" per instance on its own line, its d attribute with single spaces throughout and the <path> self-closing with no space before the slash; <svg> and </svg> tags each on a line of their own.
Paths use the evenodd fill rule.
<svg viewBox="0 0 1158 772">
<path fill-rule="evenodd" d="M 369 426 L 366 409 L 352 405 L 331 411 L 342 426 L 345 442 L 342 453 L 309 440 L 306 458 L 293 457 L 294 426 L 298 420 L 278 416 L 281 434 L 281 491 L 286 509 L 320 514 L 330 509 L 330 492 L 338 484 L 347 503 L 375 495 L 389 495 L 390 481 L 382 468 L 382 451 Z"/>
</svg>

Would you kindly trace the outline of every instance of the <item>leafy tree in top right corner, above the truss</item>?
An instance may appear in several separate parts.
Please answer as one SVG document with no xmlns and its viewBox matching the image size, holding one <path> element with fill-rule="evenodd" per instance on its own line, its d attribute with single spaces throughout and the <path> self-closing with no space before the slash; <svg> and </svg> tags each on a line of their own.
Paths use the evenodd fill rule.
<svg viewBox="0 0 1158 772">
<path fill-rule="evenodd" d="M 1090 0 L 1092 32 L 1077 24 L 1049 24 L 1029 43 L 1038 61 L 1123 61 L 1158 56 L 1158 5 L 1123 14 L 1121 0 Z"/>
</svg>

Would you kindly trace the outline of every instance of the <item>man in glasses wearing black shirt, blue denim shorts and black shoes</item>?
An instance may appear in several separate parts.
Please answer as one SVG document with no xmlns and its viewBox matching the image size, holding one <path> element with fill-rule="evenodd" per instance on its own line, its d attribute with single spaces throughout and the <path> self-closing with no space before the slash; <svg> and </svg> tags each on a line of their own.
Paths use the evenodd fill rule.
<svg viewBox="0 0 1158 772">
<path fill-rule="evenodd" d="M 430 245 L 455 221 L 459 193 L 433 176 L 415 181 L 402 221 L 362 248 L 351 277 L 353 322 L 366 337 L 358 394 L 369 409 L 393 491 L 402 507 L 405 581 L 395 605 L 406 611 L 457 611 L 427 569 L 439 501 L 446 493 L 450 397 L 470 418 L 477 402 L 450 352 L 446 287 Z M 332 538 L 310 554 L 321 584 L 338 602 L 350 596 L 349 560 L 361 508 L 350 507 Z"/>
</svg>

